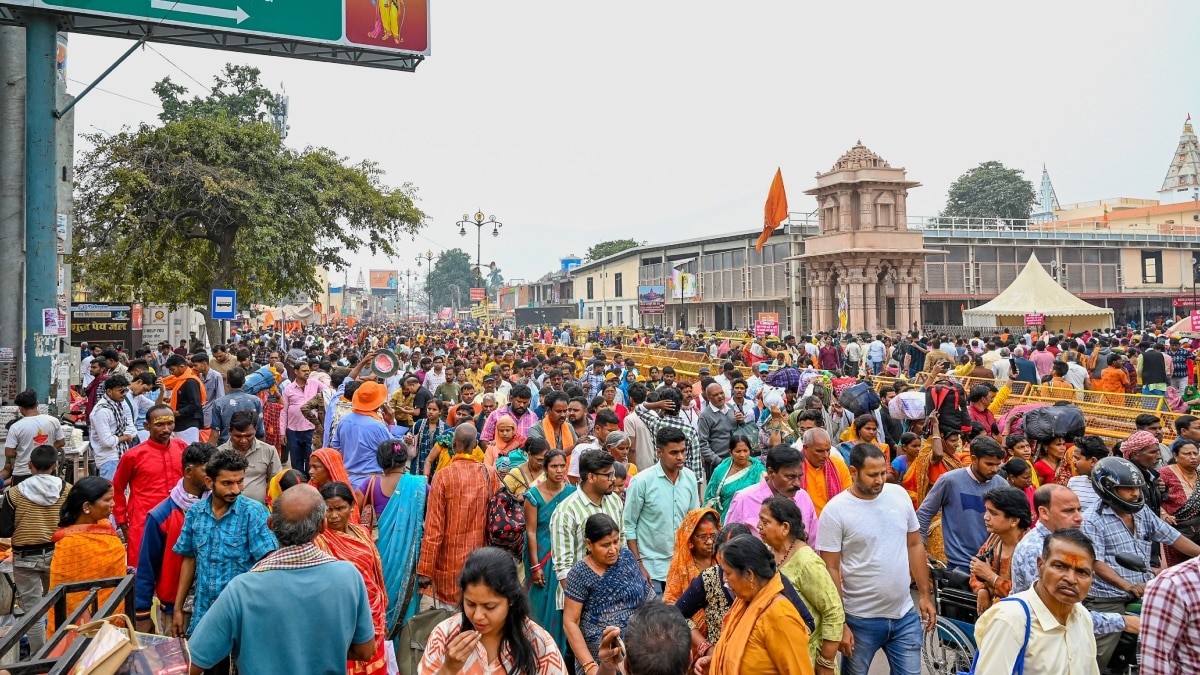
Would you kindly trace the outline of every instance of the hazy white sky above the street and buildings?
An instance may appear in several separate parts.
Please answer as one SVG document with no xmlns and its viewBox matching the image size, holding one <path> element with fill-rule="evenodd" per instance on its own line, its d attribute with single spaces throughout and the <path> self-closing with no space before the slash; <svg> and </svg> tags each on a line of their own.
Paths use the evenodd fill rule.
<svg viewBox="0 0 1200 675">
<path fill-rule="evenodd" d="M 422 235 L 356 265 L 474 257 L 474 228 L 454 223 L 480 208 L 504 222 L 485 232 L 485 264 L 532 280 L 605 239 L 760 227 L 776 167 L 791 210 L 811 211 L 803 191 L 857 139 L 923 184 L 911 215 L 986 160 L 1034 185 L 1045 162 L 1062 203 L 1154 197 L 1200 114 L 1194 0 L 433 0 L 431 16 L 415 73 L 155 44 L 76 108 L 76 129 L 155 121 L 154 82 L 199 91 L 188 76 L 208 85 L 248 62 L 286 86 L 289 144 L 419 186 Z M 72 36 L 68 77 L 91 82 L 127 47 Z"/>
</svg>

